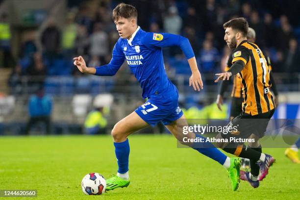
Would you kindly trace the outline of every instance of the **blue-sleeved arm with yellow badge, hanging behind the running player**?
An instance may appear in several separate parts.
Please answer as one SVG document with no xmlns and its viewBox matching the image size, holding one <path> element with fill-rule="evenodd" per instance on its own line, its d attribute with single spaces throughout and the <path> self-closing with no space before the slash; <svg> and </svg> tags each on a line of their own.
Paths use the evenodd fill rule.
<svg viewBox="0 0 300 200">
<path fill-rule="evenodd" d="M 200 91 L 200 88 L 203 89 L 203 82 L 198 70 L 195 54 L 189 40 L 186 37 L 171 33 L 147 33 L 142 39 L 142 42 L 145 46 L 153 50 L 164 47 L 180 47 L 186 56 L 192 71 L 192 75 L 189 79 L 190 86 L 192 85 L 194 90 L 198 91 Z"/>
</svg>

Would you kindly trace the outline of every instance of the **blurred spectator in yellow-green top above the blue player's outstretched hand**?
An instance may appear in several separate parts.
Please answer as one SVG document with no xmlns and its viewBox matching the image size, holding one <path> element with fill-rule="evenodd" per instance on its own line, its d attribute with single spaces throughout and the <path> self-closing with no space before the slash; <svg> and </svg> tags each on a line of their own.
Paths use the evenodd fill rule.
<svg viewBox="0 0 300 200">
<path fill-rule="evenodd" d="M 62 50 L 65 57 L 70 58 L 75 53 L 75 39 L 77 36 L 77 25 L 74 22 L 75 15 L 69 12 L 66 25 L 62 32 Z"/>
</svg>

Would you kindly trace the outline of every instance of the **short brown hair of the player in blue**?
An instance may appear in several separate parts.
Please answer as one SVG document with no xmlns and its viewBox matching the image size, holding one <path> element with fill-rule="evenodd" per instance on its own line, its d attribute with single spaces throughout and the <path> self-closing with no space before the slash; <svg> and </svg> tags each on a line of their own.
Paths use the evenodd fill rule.
<svg viewBox="0 0 300 200">
<path fill-rule="evenodd" d="M 136 18 L 137 19 L 137 10 L 134 6 L 120 3 L 113 10 L 113 20 L 117 21 L 119 17 L 125 19 Z"/>
</svg>

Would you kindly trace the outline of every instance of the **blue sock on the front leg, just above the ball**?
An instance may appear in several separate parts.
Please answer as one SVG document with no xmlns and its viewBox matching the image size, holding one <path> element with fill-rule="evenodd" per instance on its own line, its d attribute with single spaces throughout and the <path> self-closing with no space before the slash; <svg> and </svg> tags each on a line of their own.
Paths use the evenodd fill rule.
<svg viewBox="0 0 300 200">
<path fill-rule="evenodd" d="M 125 174 L 126 172 L 128 172 L 128 158 L 130 151 L 128 138 L 124 142 L 114 142 L 114 146 L 116 157 L 118 159 L 118 173 Z"/>
</svg>

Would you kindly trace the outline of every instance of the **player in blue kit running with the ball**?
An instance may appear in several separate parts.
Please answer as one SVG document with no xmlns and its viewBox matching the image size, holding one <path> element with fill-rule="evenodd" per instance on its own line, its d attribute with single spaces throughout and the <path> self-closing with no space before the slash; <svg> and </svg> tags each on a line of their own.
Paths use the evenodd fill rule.
<svg viewBox="0 0 300 200">
<path fill-rule="evenodd" d="M 236 190 L 240 181 L 239 158 L 227 157 L 209 142 L 202 146 L 193 141 L 183 142 L 183 137 L 189 139 L 203 137 L 194 132 L 189 132 L 187 135 L 182 134 L 182 127 L 188 124 L 178 106 L 178 91 L 166 75 L 162 48 L 174 46 L 181 48 L 192 71 L 189 79 L 190 86 L 193 86 L 194 90 L 200 91 L 203 83 L 189 40 L 170 33 L 145 32 L 137 25 L 136 8 L 125 3 L 120 3 L 113 10 L 113 20 L 120 38 L 113 49 L 111 61 L 100 67 L 87 67 L 82 56 L 78 56 L 74 58 L 74 65 L 84 74 L 112 76 L 117 73 L 126 59 L 132 74 L 141 84 L 143 98 L 148 98 L 148 100 L 119 121 L 112 129 L 111 134 L 119 169 L 117 175 L 106 180 L 106 190 L 127 187 L 130 183 L 127 137 L 137 130 L 148 125 L 156 125 L 158 122 L 162 122 L 181 144 L 198 150 L 223 165 L 227 169 L 232 189 Z"/>
</svg>

